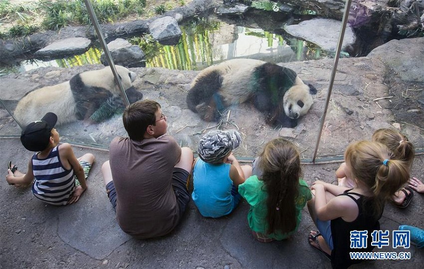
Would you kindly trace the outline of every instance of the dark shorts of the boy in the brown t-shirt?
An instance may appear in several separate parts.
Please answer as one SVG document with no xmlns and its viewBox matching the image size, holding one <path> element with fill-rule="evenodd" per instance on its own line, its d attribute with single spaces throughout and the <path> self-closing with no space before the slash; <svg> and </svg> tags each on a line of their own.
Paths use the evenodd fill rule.
<svg viewBox="0 0 424 269">
<path fill-rule="evenodd" d="M 189 176 L 189 172 L 181 168 L 174 168 L 172 174 L 172 188 L 174 189 L 175 197 L 177 198 L 177 203 L 180 208 L 180 215 L 186 211 L 187 204 L 190 201 L 190 193 L 187 189 L 187 180 Z M 116 189 L 113 181 L 107 183 L 106 192 L 113 210 L 116 212 Z"/>
</svg>

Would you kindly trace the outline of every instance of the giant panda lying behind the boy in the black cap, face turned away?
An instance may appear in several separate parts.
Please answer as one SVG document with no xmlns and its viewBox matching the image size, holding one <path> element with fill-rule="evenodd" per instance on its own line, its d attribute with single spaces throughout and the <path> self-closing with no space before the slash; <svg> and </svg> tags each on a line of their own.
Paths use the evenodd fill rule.
<svg viewBox="0 0 424 269">
<path fill-rule="evenodd" d="M 143 97 L 132 86 L 136 74 L 115 66 L 130 102 Z M 124 106 L 120 90 L 110 67 L 79 73 L 70 81 L 43 87 L 27 93 L 16 105 L 14 117 L 23 125 L 40 119 L 46 112 L 57 115 L 56 125 L 87 120 L 106 101 Z"/>
</svg>

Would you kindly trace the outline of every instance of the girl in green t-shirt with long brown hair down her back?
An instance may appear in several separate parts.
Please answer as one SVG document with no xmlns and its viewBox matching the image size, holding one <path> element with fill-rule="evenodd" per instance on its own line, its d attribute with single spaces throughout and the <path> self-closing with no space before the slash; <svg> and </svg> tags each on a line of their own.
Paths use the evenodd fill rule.
<svg viewBox="0 0 424 269">
<path fill-rule="evenodd" d="M 250 205 L 247 220 L 253 236 L 260 242 L 286 239 L 297 230 L 302 208 L 312 198 L 300 179 L 297 147 L 282 138 L 271 140 L 256 158 L 253 174 L 238 186 Z"/>
</svg>

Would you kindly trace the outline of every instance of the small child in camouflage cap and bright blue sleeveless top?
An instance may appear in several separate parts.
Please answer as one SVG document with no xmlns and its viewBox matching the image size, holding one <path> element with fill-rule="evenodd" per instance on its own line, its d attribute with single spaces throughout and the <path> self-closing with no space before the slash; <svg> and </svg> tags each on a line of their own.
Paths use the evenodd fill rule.
<svg viewBox="0 0 424 269">
<path fill-rule="evenodd" d="M 251 166 L 240 166 L 232 154 L 240 142 L 240 133 L 235 130 L 210 131 L 200 139 L 192 198 L 204 217 L 225 216 L 240 201 L 238 185 L 252 174 Z"/>
</svg>

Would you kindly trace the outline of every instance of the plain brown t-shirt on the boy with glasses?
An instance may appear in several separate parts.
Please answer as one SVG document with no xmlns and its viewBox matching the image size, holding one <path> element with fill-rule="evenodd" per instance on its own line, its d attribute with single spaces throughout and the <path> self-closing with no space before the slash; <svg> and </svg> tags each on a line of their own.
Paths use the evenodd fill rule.
<svg viewBox="0 0 424 269">
<path fill-rule="evenodd" d="M 171 232 L 181 215 L 172 173 L 181 148 L 169 135 L 110 143 L 110 168 L 116 188 L 116 216 L 121 229 L 136 238 Z"/>
</svg>

